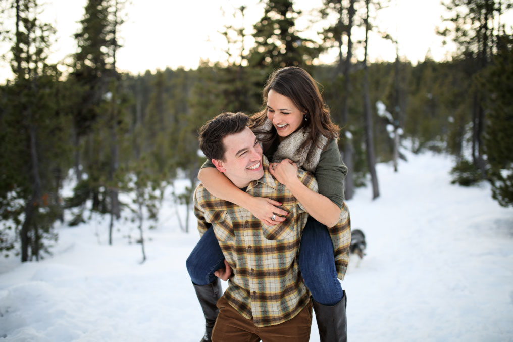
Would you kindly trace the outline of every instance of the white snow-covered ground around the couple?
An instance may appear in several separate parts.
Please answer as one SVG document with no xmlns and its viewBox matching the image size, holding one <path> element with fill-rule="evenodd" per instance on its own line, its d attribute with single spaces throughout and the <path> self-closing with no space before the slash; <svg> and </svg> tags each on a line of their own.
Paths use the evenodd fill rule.
<svg viewBox="0 0 513 342">
<path fill-rule="evenodd" d="M 378 165 L 379 199 L 365 188 L 348 201 L 367 238 L 367 256 L 359 267 L 351 260 L 342 283 L 349 340 L 513 341 L 513 210 L 486 183 L 451 185 L 448 157 L 407 156 L 399 173 Z M 200 340 L 185 269 L 194 219 L 182 233 L 170 201 L 160 218 L 144 264 L 140 245 L 123 238 L 128 224 L 106 243 L 107 219 L 58 228 L 43 261 L 0 261 L 0 340 Z M 319 341 L 315 322 L 310 340 Z"/>
</svg>

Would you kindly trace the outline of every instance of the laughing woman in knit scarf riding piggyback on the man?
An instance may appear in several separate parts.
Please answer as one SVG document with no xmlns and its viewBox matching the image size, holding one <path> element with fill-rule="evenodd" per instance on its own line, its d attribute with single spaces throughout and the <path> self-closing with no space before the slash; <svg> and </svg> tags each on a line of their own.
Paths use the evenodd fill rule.
<svg viewBox="0 0 513 342">
<path fill-rule="evenodd" d="M 342 211 L 347 214 L 343 188 L 347 167 L 337 146 L 339 128 L 331 122 L 315 81 L 299 67 L 274 71 L 264 88 L 263 102 L 266 108 L 252 116 L 250 128 L 262 143 L 264 154 L 273 161 L 270 173 L 289 189 L 309 214 L 301 240 L 299 264 L 312 294 L 321 340 L 346 340 L 346 301 L 337 276 L 344 277 L 347 257 L 334 255 L 333 245 L 337 248 L 337 243 L 341 243 L 340 239 L 336 243 L 334 235 L 340 232 L 331 232 L 330 236 L 329 231 L 339 222 Z M 298 166 L 314 174 L 319 193 L 312 192 L 298 180 Z M 284 220 L 280 215 L 287 214 L 278 208 L 281 203 L 241 191 L 209 162 L 200 170 L 198 178 L 212 195 L 245 207 L 267 225 L 279 224 Z M 214 308 L 205 310 L 205 302 L 215 303 L 212 296 L 221 292 L 219 283 L 215 285 L 214 271 L 223 279 L 230 271 L 223 262 L 219 245 L 215 246 L 217 241 L 213 233 L 205 235 L 187 260 L 187 268 L 202 303 L 208 330 L 207 313 L 212 318 Z M 347 252 L 344 250 L 343 253 Z M 218 270 L 225 266 L 225 272 Z M 212 319 L 210 325 L 213 326 L 211 322 Z M 209 340 L 207 335 L 208 331 L 205 341 Z"/>
</svg>

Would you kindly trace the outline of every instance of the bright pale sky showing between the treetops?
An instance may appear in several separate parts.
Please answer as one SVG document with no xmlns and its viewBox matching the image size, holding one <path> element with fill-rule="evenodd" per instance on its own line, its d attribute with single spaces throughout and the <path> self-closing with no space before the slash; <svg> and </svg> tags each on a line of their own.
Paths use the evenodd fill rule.
<svg viewBox="0 0 513 342">
<path fill-rule="evenodd" d="M 51 60 L 62 60 L 76 50 L 73 34 L 80 29 L 77 23 L 84 14 L 86 0 L 49 0 L 44 11 L 44 20 L 57 29 L 57 43 L 53 45 Z M 234 8 L 242 4 L 247 6 L 244 22 L 231 14 Z M 319 8 L 322 0 L 297 0 L 295 8 L 310 13 Z M 223 16 L 223 11 L 226 13 Z M 120 36 L 124 46 L 117 54 L 117 66 L 131 73 L 144 72 L 146 69 L 196 68 L 201 59 L 211 61 L 226 60 L 223 52 L 226 41 L 218 31 L 227 23 L 244 25 L 247 35 L 252 25 L 263 14 L 263 6 L 258 0 L 222 0 L 222 1 L 161 1 L 131 0 L 126 6 L 128 19 L 121 27 Z M 378 12 L 381 31 L 398 37 L 399 53 L 413 63 L 423 61 L 426 52 L 435 60 L 449 55 L 442 48 L 442 39 L 435 33 L 441 25 L 443 8 L 440 0 L 391 0 L 389 8 Z M 308 29 L 308 17 L 297 21 L 298 29 Z M 318 40 L 315 31 L 322 24 L 315 24 L 305 37 Z M 353 31 L 358 33 L 358 31 Z M 361 37 L 363 39 L 363 36 Z M 248 38 L 246 44 L 251 44 Z M 2 48 L 5 51 L 6 48 Z M 361 59 L 357 49 L 355 54 Z M 331 63 L 337 60 L 338 52 L 331 51 L 321 56 L 319 63 Z M 393 61 L 395 47 L 373 35 L 369 40 L 369 60 Z M 0 80 L 10 77 L 9 65 L 0 64 Z"/>
</svg>

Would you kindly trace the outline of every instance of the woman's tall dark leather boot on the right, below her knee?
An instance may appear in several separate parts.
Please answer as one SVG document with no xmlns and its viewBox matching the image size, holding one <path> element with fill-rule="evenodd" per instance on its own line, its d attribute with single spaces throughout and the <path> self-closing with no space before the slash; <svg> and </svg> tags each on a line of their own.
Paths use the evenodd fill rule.
<svg viewBox="0 0 513 342">
<path fill-rule="evenodd" d="M 347 342 L 346 292 L 333 306 L 323 305 L 313 299 L 312 303 L 321 342 Z"/>
</svg>

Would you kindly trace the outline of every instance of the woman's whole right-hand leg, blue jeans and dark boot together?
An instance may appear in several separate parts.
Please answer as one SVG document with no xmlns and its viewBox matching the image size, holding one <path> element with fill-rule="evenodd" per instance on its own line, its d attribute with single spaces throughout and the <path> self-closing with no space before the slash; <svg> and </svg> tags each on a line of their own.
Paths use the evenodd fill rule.
<svg viewBox="0 0 513 342">
<path fill-rule="evenodd" d="M 301 237 L 299 267 L 312 294 L 321 342 L 347 342 L 347 297 L 337 279 L 331 237 L 327 227 L 311 217 Z"/>
</svg>

